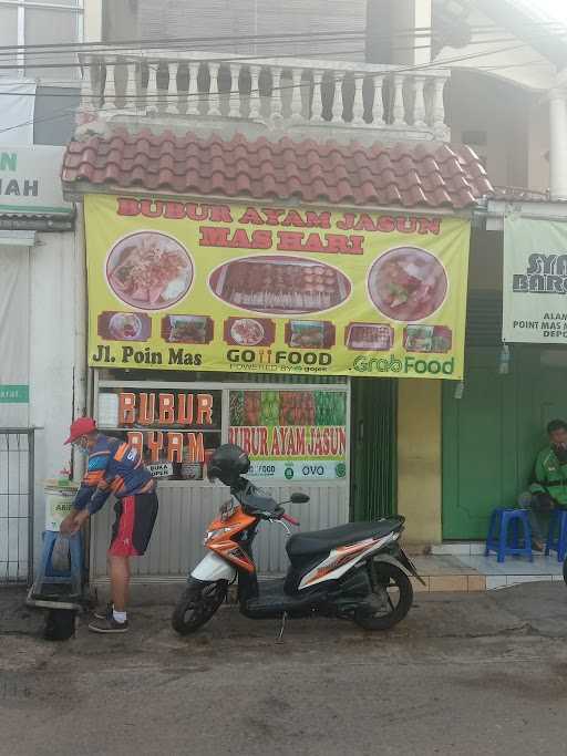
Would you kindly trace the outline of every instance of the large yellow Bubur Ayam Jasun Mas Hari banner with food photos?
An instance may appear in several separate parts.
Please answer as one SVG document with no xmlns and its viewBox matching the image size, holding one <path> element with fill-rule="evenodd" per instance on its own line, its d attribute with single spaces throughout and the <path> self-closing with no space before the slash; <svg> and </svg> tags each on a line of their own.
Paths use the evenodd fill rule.
<svg viewBox="0 0 567 756">
<path fill-rule="evenodd" d="M 461 379 L 470 224 L 87 196 L 89 363 Z"/>
</svg>

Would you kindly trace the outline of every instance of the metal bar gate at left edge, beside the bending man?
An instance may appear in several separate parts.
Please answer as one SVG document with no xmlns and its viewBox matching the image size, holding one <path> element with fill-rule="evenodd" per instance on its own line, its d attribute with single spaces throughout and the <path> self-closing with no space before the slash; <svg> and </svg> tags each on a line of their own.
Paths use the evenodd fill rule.
<svg viewBox="0 0 567 756">
<path fill-rule="evenodd" d="M 0 584 L 33 576 L 33 429 L 0 428 Z"/>
</svg>

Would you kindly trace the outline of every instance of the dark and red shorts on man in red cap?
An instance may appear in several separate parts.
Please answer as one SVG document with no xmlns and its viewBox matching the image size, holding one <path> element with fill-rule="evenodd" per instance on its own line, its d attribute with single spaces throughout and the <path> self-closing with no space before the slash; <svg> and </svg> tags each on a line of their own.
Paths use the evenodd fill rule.
<svg viewBox="0 0 567 756">
<path fill-rule="evenodd" d="M 116 520 L 112 526 L 109 553 L 113 557 L 141 557 L 145 553 L 157 517 L 157 496 L 136 494 L 114 505 Z"/>
</svg>

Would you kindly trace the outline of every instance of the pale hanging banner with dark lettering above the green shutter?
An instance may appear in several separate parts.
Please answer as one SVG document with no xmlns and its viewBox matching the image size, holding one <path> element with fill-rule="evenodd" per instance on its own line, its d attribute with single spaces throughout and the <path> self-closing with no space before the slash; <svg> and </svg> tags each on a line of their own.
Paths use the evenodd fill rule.
<svg viewBox="0 0 567 756">
<path fill-rule="evenodd" d="M 502 338 L 567 344 L 567 222 L 504 218 Z"/>
</svg>

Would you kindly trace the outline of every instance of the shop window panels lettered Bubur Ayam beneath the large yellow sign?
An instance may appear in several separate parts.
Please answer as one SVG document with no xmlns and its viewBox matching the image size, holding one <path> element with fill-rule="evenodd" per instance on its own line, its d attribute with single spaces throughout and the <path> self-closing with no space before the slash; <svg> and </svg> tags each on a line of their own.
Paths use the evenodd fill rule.
<svg viewBox="0 0 567 756">
<path fill-rule="evenodd" d="M 99 427 L 141 451 L 152 475 L 204 480 L 228 441 L 250 457 L 249 477 L 347 477 L 347 391 L 330 389 L 187 391 L 146 384 L 101 386 Z M 223 412 L 228 402 L 228 413 Z"/>
</svg>

